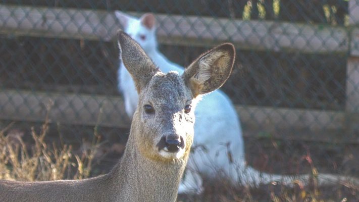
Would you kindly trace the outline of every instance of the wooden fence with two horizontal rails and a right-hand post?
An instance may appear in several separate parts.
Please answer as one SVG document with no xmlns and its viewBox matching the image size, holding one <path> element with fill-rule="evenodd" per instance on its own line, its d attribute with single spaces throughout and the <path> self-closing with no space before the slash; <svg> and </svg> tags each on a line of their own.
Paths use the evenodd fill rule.
<svg viewBox="0 0 359 202">
<path fill-rule="evenodd" d="M 359 28 L 355 26 L 359 24 L 359 1 L 349 2 L 350 26 L 346 27 L 161 14 L 156 17 L 160 22 L 159 42 L 165 44 L 208 46 L 231 41 L 240 49 L 349 54 L 343 111 L 260 106 L 236 109 L 243 128 L 251 131 L 280 130 L 276 134 L 285 136 L 295 130 L 301 139 L 332 142 L 342 137 L 337 141 L 358 141 L 349 137 L 354 137 L 359 123 Z M 113 12 L 0 4 L 0 34 L 110 41 L 119 28 Z M 0 119 L 43 121 L 49 102 L 53 103 L 50 119 L 54 122 L 129 127 L 121 97 L 12 89 L 0 92 Z M 14 103 L 18 107 L 13 107 Z"/>
</svg>

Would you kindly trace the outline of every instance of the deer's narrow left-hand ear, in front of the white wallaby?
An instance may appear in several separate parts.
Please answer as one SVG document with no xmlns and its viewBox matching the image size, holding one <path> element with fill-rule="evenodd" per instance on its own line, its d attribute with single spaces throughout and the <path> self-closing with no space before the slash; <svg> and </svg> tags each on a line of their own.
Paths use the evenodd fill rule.
<svg viewBox="0 0 359 202">
<path fill-rule="evenodd" d="M 122 30 L 117 32 L 120 57 L 135 82 L 137 92 L 160 70 L 149 59 L 141 46 Z"/>
</svg>

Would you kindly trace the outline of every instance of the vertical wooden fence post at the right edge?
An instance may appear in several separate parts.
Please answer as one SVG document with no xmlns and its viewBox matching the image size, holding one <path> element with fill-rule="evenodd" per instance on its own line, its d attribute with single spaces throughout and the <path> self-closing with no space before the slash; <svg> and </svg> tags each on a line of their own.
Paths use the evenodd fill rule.
<svg viewBox="0 0 359 202">
<path fill-rule="evenodd" d="M 359 132 L 359 0 L 349 1 L 349 24 L 351 31 L 350 53 L 346 68 L 346 103 L 348 132 Z"/>
</svg>

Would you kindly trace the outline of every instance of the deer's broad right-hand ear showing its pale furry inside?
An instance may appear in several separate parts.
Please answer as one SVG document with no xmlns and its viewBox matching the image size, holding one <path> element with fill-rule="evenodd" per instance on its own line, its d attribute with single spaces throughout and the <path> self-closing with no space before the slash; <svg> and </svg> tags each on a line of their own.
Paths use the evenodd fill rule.
<svg viewBox="0 0 359 202">
<path fill-rule="evenodd" d="M 221 87 L 231 74 L 235 48 L 231 43 L 219 45 L 198 57 L 182 77 L 192 90 L 193 97 Z"/>
</svg>

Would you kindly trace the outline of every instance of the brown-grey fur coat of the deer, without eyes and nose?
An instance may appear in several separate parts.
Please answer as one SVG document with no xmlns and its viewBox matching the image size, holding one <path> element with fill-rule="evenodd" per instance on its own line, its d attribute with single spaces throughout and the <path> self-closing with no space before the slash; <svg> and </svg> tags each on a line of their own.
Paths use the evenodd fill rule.
<svg viewBox="0 0 359 202">
<path fill-rule="evenodd" d="M 139 93 L 139 107 L 120 162 L 109 174 L 85 180 L 0 180 L 2 202 L 176 200 L 193 140 L 196 96 L 219 88 L 227 80 L 233 67 L 233 45 L 212 49 L 180 76 L 162 73 L 127 34 L 119 31 L 118 36 L 123 63 Z M 151 105 L 155 113 L 145 113 L 144 105 Z M 192 105 L 187 114 L 186 105 Z M 157 146 L 162 137 L 173 134 L 185 142 L 182 153 L 166 153 Z"/>
</svg>

